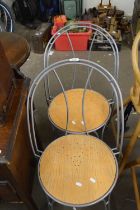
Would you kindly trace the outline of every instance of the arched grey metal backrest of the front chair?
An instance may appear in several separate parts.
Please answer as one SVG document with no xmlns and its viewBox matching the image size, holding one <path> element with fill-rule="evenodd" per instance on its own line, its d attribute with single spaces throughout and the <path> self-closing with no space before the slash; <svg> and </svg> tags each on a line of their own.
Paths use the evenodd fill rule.
<svg viewBox="0 0 140 210">
<path fill-rule="evenodd" d="M 76 66 L 84 66 L 88 68 L 84 68 L 83 71 L 89 71 L 88 78 L 86 81 L 86 84 L 84 86 L 84 92 L 83 92 L 83 98 L 82 98 L 82 117 L 84 121 L 84 126 L 86 130 L 86 123 L 85 123 L 85 116 L 84 116 L 84 98 L 85 98 L 85 93 L 88 87 L 88 83 L 90 81 L 91 75 L 93 73 L 98 73 L 101 75 L 105 81 L 108 82 L 110 85 L 111 91 L 113 90 L 114 93 L 114 98 L 115 98 L 115 103 L 116 103 L 116 110 L 117 110 L 117 121 L 116 121 L 116 129 L 117 129 L 117 138 L 116 138 L 116 145 L 115 148 L 113 148 L 113 151 L 119 151 L 121 153 L 122 151 L 122 145 L 123 145 L 123 133 L 124 133 L 124 117 L 123 117 L 123 102 L 122 102 L 122 95 L 120 88 L 114 79 L 114 77 L 103 67 L 100 65 L 84 60 L 84 59 L 67 59 L 67 60 L 62 60 L 59 62 L 56 62 L 49 67 L 45 68 L 40 74 L 35 78 L 33 81 L 30 91 L 28 94 L 28 99 L 27 99 L 27 120 L 28 120 L 28 130 L 29 130 L 29 136 L 30 136 L 30 141 L 31 141 L 31 146 L 32 150 L 34 152 L 34 155 L 37 157 L 40 157 L 42 151 L 39 150 L 38 148 L 38 143 L 37 143 L 37 137 L 36 137 L 36 130 L 35 130 L 35 117 L 34 117 L 34 99 L 35 99 L 35 93 L 37 91 L 37 88 L 39 87 L 41 81 L 44 81 L 44 78 L 46 78 L 50 73 L 53 73 L 55 77 L 57 78 L 59 85 L 61 87 L 61 92 L 63 92 L 65 103 L 66 103 L 66 110 L 67 110 L 67 122 L 69 120 L 69 109 L 68 109 L 68 100 L 67 100 L 67 95 L 65 93 L 64 86 L 62 84 L 62 81 L 59 77 L 59 74 L 57 73 L 58 70 L 60 70 L 62 67 L 64 68 L 64 71 L 67 71 L 67 67 L 69 65 L 76 65 Z M 76 103 L 76 101 L 75 101 Z M 47 105 L 47 104 L 46 104 Z M 86 132 L 87 133 L 87 132 Z M 66 132 L 65 134 L 67 135 L 67 125 L 66 125 Z M 88 134 L 88 133 L 87 133 Z"/>
</svg>

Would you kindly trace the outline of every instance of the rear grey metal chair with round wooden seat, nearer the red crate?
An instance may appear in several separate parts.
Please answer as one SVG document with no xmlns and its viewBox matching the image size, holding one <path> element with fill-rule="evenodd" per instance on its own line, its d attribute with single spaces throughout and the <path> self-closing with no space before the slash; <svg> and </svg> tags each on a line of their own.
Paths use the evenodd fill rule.
<svg viewBox="0 0 140 210">
<path fill-rule="evenodd" d="M 44 53 L 44 67 L 47 67 L 51 64 L 51 51 L 53 48 L 54 43 L 56 44 L 59 41 L 62 41 L 61 39 L 66 36 L 67 45 L 69 45 L 70 48 L 70 54 L 65 53 L 66 57 L 73 57 L 73 59 L 78 59 L 81 56 L 80 54 L 76 54 L 75 50 L 75 43 L 72 39 L 73 35 L 71 33 L 71 30 L 87 30 L 90 31 L 90 34 L 94 34 L 92 37 L 92 41 L 89 47 L 89 51 L 87 52 L 87 59 L 92 60 L 95 56 L 92 56 L 92 54 L 96 54 L 92 51 L 92 47 L 97 41 L 97 39 L 102 37 L 107 43 L 109 44 L 111 50 L 113 51 L 113 67 L 111 68 L 111 73 L 113 76 L 118 79 L 119 74 L 119 54 L 118 54 L 118 48 L 116 46 L 116 43 L 112 36 L 103 28 L 99 27 L 98 25 L 91 24 L 89 22 L 77 22 L 70 25 L 67 25 L 57 31 L 53 37 L 50 39 Z M 90 35 L 91 36 L 91 35 Z M 63 54 L 64 55 L 64 54 Z M 86 53 L 84 52 L 84 58 L 86 57 Z M 54 57 L 54 56 L 53 56 Z M 59 60 L 59 56 L 57 56 L 57 60 Z M 85 132 L 84 122 L 82 119 L 82 95 L 84 92 L 84 89 L 76 88 L 77 79 L 79 77 L 78 75 L 78 66 L 72 65 L 71 71 L 73 72 L 73 77 L 71 79 L 71 89 L 66 91 L 67 99 L 68 99 L 68 107 L 69 107 L 69 122 L 67 130 L 70 133 L 83 133 Z M 87 67 L 89 68 L 89 67 Z M 88 71 L 87 71 L 88 74 Z M 62 130 L 65 131 L 66 124 L 67 124 L 67 117 L 66 117 L 66 106 L 65 106 L 65 98 L 63 93 L 59 93 L 55 98 L 53 97 L 53 91 L 50 87 L 49 77 L 45 79 L 45 91 L 46 91 L 46 100 L 49 107 L 49 119 L 52 122 L 52 124 Z M 91 81 L 89 81 L 89 89 L 86 91 L 86 97 L 85 97 L 85 104 L 86 104 L 86 111 L 85 111 L 85 120 L 87 121 L 87 131 L 93 132 L 100 128 L 104 129 L 104 125 L 106 125 L 109 117 L 110 117 L 110 103 L 113 104 L 112 97 L 107 100 L 102 94 L 98 93 L 97 91 L 92 91 L 92 84 Z M 73 101 L 77 100 L 77 103 L 73 103 Z M 96 101 L 96 103 L 93 103 L 93 101 Z M 60 105 L 61 104 L 61 105 Z M 74 104 L 74 106 L 73 106 Z M 92 107 L 94 104 L 94 107 Z"/>
</svg>

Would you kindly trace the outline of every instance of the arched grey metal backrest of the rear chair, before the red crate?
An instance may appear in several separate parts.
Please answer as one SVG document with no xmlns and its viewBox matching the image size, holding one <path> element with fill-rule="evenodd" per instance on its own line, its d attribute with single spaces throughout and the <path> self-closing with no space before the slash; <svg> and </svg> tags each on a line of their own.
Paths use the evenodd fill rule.
<svg viewBox="0 0 140 210">
<path fill-rule="evenodd" d="M 74 47 L 73 47 L 71 37 L 69 36 L 69 32 L 71 31 L 71 29 L 78 29 L 78 28 L 79 29 L 86 28 L 88 30 L 94 31 L 94 36 L 93 36 L 93 39 L 92 39 L 90 47 L 89 47 L 88 58 L 85 58 L 85 59 L 91 60 L 91 51 L 92 51 L 92 47 L 93 47 L 93 45 L 96 41 L 97 36 L 103 37 L 110 44 L 110 47 L 111 47 L 111 49 L 113 51 L 113 55 L 114 55 L 114 67 L 113 67 L 114 71 L 112 72 L 112 74 L 115 77 L 115 79 L 118 80 L 118 75 L 119 75 L 119 52 L 118 52 L 118 47 L 116 45 L 115 40 L 105 29 L 101 28 L 98 25 L 91 24 L 91 23 L 86 22 L 86 21 L 69 24 L 69 25 L 61 28 L 60 30 L 58 30 L 51 37 L 51 39 L 48 42 L 47 47 L 45 49 L 45 53 L 44 53 L 44 68 L 46 68 L 47 66 L 50 65 L 50 63 L 49 63 L 49 58 L 50 58 L 50 54 L 51 54 L 50 52 L 51 52 L 51 50 L 54 46 L 54 43 L 57 41 L 57 39 L 59 39 L 64 34 L 66 34 L 68 42 L 69 42 L 69 46 L 71 48 L 71 52 L 72 52 L 71 57 L 74 57 L 74 58 L 77 57 L 76 54 L 75 54 L 75 51 L 74 51 Z"/>
</svg>

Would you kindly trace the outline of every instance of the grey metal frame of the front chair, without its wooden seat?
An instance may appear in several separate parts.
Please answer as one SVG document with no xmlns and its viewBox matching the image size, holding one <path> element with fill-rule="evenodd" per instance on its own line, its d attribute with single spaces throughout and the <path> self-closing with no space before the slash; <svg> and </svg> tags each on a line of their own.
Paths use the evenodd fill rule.
<svg viewBox="0 0 140 210">
<path fill-rule="evenodd" d="M 34 118 L 34 96 L 35 96 L 37 87 L 39 86 L 40 82 L 43 81 L 44 78 L 46 78 L 49 75 L 49 73 L 53 72 L 55 74 L 55 76 L 57 77 L 59 84 L 62 88 L 62 92 L 64 94 L 65 102 L 67 105 L 67 96 L 65 94 L 63 84 L 57 74 L 57 69 L 62 66 L 66 66 L 66 65 L 84 65 L 90 69 L 89 70 L 86 68 L 86 71 L 90 71 L 90 72 L 89 72 L 88 79 L 87 79 L 87 82 L 86 82 L 86 85 L 84 88 L 83 99 L 82 99 L 83 100 L 83 105 L 82 105 L 83 121 L 84 121 L 85 128 L 86 128 L 86 124 L 85 124 L 85 119 L 84 119 L 84 97 L 85 97 L 87 86 L 90 81 L 90 77 L 91 77 L 92 73 L 94 71 L 96 71 L 99 74 L 101 74 L 109 82 L 112 90 L 114 91 L 114 97 L 116 99 L 117 138 L 116 138 L 116 146 L 115 146 L 115 148 L 112 148 L 112 152 L 113 152 L 114 158 L 116 160 L 117 176 L 116 176 L 113 186 L 109 190 L 109 192 L 103 198 L 101 198 L 97 201 L 97 202 L 103 201 L 104 205 L 105 205 L 105 209 L 109 210 L 110 209 L 110 195 L 111 195 L 111 192 L 112 192 L 112 190 L 117 182 L 117 178 L 118 178 L 118 164 L 117 164 L 116 157 L 118 155 L 121 156 L 121 153 L 122 153 L 123 133 L 124 133 L 124 115 L 123 115 L 123 102 L 122 102 L 122 95 L 121 95 L 120 88 L 119 88 L 116 80 L 114 79 L 114 77 L 105 68 L 101 67 L 100 65 L 98 65 L 94 62 L 84 60 L 84 59 L 67 59 L 67 60 L 62 60 L 62 61 L 56 62 L 56 63 L 48 66 L 47 68 L 45 68 L 43 71 L 41 71 L 38 74 L 38 76 L 35 78 L 35 80 L 33 81 L 32 85 L 30 87 L 28 99 L 27 99 L 27 123 L 28 123 L 28 131 L 29 131 L 31 147 L 32 147 L 34 156 L 37 158 L 40 158 L 43 151 L 41 151 L 38 148 L 36 131 L 35 131 L 35 122 L 34 122 L 34 120 L 35 120 L 35 118 Z M 68 119 L 68 107 L 67 107 L 67 119 Z M 68 134 L 68 132 L 66 130 L 65 135 L 67 135 L 67 134 Z M 88 132 L 86 134 L 88 135 Z M 38 175 L 39 175 L 39 172 L 38 172 Z M 45 189 L 44 189 L 44 191 L 45 191 Z M 47 195 L 49 209 L 53 210 L 53 202 L 57 201 L 57 200 L 55 198 L 53 198 L 52 196 L 50 196 L 49 194 L 47 194 L 46 191 L 45 191 L 45 193 Z M 61 203 L 60 201 L 57 201 L 57 202 Z M 97 202 L 90 203 L 89 205 L 93 205 Z M 64 203 L 61 203 L 61 204 L 64 205 Z M 89 206 L 89 205 L 85 204 L 85 206 Z M 71 205 L 67 205 L 67 206 L 71 206 Z M 76 210 L 77 207 L 81 207 L 81 206 L 77 205 L 77 206 L 71 206 L 71 207 L 73 208 L 73 210 Z"/>
</svg>

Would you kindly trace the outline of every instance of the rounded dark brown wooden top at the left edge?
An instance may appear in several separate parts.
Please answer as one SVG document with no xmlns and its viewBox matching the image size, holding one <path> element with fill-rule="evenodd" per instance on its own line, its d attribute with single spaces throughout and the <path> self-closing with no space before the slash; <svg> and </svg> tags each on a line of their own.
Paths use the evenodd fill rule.
<svg viewBox="0 0 140 210">
<path fill-rule="evenodd" d="M 0 42 L 2 43 L 5 55 L 9 63 L 19 68 L 30 55 L 30 46 L 22 36 L 9 33 L 0 33 Z"/>
</svg>

